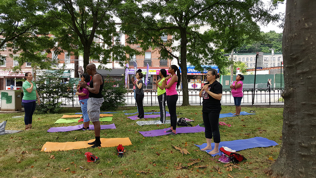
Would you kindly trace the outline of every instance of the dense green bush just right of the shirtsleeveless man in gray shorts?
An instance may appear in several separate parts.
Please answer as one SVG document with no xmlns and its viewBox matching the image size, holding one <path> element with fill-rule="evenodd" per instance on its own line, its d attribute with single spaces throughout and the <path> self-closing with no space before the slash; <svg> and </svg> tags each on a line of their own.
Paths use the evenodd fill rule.
<svg viewBox="0 0 316 178">
<path fill-rule="evenodd" d="M 124 95 L 127 93 L 124 81 L 104 80 L 102 95 L 104 102 L 101 110 L 116 110 L 119 106 L 125 105 Z"/>
</svg>

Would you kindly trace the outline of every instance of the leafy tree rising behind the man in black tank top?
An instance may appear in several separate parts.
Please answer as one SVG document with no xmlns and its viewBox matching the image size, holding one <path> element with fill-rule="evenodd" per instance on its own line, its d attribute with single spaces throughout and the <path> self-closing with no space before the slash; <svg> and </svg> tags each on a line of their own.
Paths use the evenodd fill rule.
<svg viewBox="0 0 316 178">
<path fill-rule="evenodd" d="M 125 53 L 133 53 L 129 46 L 116 42 L 121 34 L 117 32 L 113 15 L 120 3 L 120 0 L 47 1 L 46 15 L 58 22 L 51 32 L 58 47 L 75 55 L 82 52 L 84 71 L 90 58 L 101 64 L 115 60 L 123 66 L 128 60 Z"/>
</svg>

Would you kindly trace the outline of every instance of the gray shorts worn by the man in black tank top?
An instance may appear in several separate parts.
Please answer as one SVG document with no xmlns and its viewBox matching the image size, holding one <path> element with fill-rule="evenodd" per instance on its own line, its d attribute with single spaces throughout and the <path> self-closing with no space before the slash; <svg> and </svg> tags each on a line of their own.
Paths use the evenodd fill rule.
<svg viewBox="0 0 316 178">
<path fill-rule="evenodd" d="M 91 122 L 100 120 L 100 107 L 103 103 L 103 98 L 89 98 L 88 99 L 88 116 Z"/>
</svg>

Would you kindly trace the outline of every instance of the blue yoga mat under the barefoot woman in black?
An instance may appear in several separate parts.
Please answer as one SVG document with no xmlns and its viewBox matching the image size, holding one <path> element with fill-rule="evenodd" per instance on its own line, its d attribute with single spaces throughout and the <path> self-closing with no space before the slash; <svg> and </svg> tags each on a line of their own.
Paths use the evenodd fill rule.
<svg viewBox="0 0 316 178">
<path fill-rule="evenodd" d="M 200 150 L 206 147 L 206 143 L 202 145 L 194 144 L 195 146 L 199 147 Z M 246 150 L 248 148 L 256 148 L 256 147 L 268 147 L 268 146 L 275 146 L 278 145 L 275 141 L 269 140 L 268 138 L 263 137 L 254 137 L 248 139 L 241 139 L 241 140 L 232 140 L 226 142 L 220 142 L 219 147 L 226 146 L 232 150 L 240 151 Z M 215 144 L 211 143 L 212 148 L 214 148 Z M 206 152 L 210 152 L 211 150 L 205 150 Z M 213 154 L 212 156 L 221 155 L 221 152 Z"/>
</svg>

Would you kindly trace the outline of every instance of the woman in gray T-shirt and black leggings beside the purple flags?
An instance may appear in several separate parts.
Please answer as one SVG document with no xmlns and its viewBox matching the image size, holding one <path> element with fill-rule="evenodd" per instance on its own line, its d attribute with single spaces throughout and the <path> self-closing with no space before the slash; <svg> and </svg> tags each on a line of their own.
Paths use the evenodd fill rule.
<svg viewBox="0 0 316 178">
<path fill-rule="evenodd" d="M 138 108 L 138 118 L 144 118 L 144 107 L 143 107 L 143 99 L 144 99 L 144 91 L 143 91 L 143 73 L 137 72 L 135 77 L 137 78 L 137 82 L 135 83 L 135 93 L 136 93 L 136 103 Z"/>
</svg>

